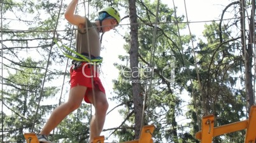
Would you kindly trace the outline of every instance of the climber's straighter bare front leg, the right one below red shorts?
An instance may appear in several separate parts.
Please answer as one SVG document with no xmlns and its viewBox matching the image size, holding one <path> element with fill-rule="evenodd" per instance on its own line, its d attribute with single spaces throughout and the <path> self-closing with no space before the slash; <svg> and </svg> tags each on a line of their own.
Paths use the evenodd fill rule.
<svg viewBox="0 0 256 143">
<path fill-rule="evenodd" d="M 95 99 L 96 102 L 93 102 L 93 95 L 90 93 L 88 95 L 89 100 L 94 105 L 95 115 L 92 116 L 90 121 L 90 142 L 101 134 L 106 118 L 106 111 L 108 110 L 108 101 L 106 99 L 106 95 L 99 91 L 95 91 Z"/>
</svg>

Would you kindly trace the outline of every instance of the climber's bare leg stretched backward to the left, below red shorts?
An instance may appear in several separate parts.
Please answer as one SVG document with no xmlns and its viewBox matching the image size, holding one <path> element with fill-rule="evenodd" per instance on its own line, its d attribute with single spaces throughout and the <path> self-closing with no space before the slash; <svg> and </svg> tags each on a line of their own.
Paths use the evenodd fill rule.
<svg viewBox="0 0 256 143">
<path fill-rule="evenodd" d="M 79 108 L 87 87 L 84 86 L 76 86 L 70 89 L 68 102 L 58 106 L 55 108 L 50 115 L 48 121 L 46 121 L 45 126 L 41 130 L 39 134 L 41 135 L 49 135 L 50 132 L 59 125 L 60 121 L 62 121 L 66 116 L 68 116 L 75 109 Z"/>
</svg>

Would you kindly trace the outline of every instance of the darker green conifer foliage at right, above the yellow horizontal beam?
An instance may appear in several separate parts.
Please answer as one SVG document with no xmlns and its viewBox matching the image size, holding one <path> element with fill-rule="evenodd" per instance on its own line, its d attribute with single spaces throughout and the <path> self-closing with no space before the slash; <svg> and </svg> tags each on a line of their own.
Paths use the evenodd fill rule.
<svg viewBox="0 0 256 143">
<path fill-rule="evenodd" d="M 210 113 L 215 115 L 215 126 L 243 120 L 246 116 L 244 110 L 246 97 L 243 87 L 239 88 L 240 83 L 237 78 L 241 74 L 239 68 L 243 66 L 241 65 L 243 59 L 236 51 L 239 42 L 232 40 L 231 31 L 226 30 L 222 39 L 231 42 L 220 43 L 218 23 L 205 25 L 205 28 L 203 34 L 207 42 L 200 40 L 197 53 L 203 95 L 199 94 L 200 87 L 194 85 L 193 88 L 198 94 L 195 94 L 196 98 L 193 98 L 193 102 L 197 103 L 197 106 L 191 106 L 191 108 L 207 108 Z M 202 99 L 206 101 L 202 102 Z M 191 116 L 196 122 L 196 116 L 191 113 L 194 112 L 188 113 L 188 116 Z M 202 113 L 197 114 L 201 115 Z M 197 132 L 198 129 L 194 128 L 193 130 Z M 245 132 L 234 132 L 225 137 L 216 137 L 214 142 L 243 142 L 244 139 L 241 138 L 244 138 L 244 135 Z"/>
</svg>

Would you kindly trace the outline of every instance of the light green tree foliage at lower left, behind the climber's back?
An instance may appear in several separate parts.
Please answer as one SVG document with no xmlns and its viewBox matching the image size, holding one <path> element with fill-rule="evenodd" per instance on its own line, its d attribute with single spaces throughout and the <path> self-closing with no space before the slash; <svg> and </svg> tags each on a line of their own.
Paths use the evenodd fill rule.
<svg viewBox="0 0 256 143">
<path fill-rule="evenodd" d="M 41 92 L 41 85 L 44 74 L 36 66 L 44 66 L 43 62 L 32 61 L 31 58 L 22 61 L 15 73 L 9 72 L 6 78 L 8 89 L 4 90 L 4 102 L 9 115 L 4 117 L 4 130 L 8 140 L 22 142 L 23 133 L 29 132 L 32 125 L 44 121 L 46 113 L 52 110 L 52 106 L 41 106 L 38 113 L 38 99 Z M 45 99 L 57 93 L 56 87 L 46 87 L 43 96 Z M 11 114 L 10 114 L 11 113 Z M 36 118 L 36 122 L 34 122 Z M 36 129 L 38 130 L 38 128 Z"/>
</svg>

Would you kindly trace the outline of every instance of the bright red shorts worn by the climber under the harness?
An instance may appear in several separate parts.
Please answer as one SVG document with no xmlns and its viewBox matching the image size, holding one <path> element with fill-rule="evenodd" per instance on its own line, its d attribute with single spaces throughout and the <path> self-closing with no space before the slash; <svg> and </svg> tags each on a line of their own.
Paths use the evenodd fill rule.
<svg viewBox="0 0 256 143">
<path fill-rule="evenodd" d="M 90 71 L 90 67 L 92 68 L 92 72 Z M 101 83 L 101 79 L 99 78 L 98 66 L 82 63 L 80 68 L 77 68 L 76 70 L 73 70 L 73 66 L 70 68 L 70 88 L 76 87 L 76 85 L 87 87 L 87 91 L 85 92 L 84 97 L 86 103 L 90 103 L 87 97 L 87 93 L 92 90 L 92 76 L 94 87 L 105 94 L 105 89 Z"/>
</svg>

